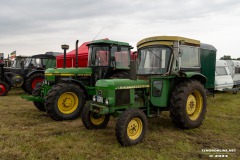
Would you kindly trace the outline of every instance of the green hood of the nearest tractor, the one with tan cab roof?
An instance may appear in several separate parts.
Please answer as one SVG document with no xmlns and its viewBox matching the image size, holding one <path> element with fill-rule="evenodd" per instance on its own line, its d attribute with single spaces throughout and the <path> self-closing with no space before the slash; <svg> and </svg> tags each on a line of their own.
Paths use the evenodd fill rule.
<svg viewBox="0 0 240 160">
<path fill-rule="evenodd" d="M 148 88 L 149 82 L 145 80 L 130 80 L 130 79 L 103 79 L 98 80 L 96 89 L 132 89 L 132 88 Z"/>
</svg>

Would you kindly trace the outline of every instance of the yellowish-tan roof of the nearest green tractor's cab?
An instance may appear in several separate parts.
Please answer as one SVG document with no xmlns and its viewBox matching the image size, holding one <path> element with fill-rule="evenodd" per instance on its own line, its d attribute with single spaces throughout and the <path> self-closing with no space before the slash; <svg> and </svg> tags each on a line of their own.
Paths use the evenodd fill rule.
<svg viewBox="0 0 240 160">
<path fill-rule="evenodd" d="M 142 39 L 137 43 L 137 48 L 150 45 L 173 45 L 174 41 L 184 41 L 187 45 L 200 46 L 200 41 L 179 36 L 154 36 Z"/>
</svg>

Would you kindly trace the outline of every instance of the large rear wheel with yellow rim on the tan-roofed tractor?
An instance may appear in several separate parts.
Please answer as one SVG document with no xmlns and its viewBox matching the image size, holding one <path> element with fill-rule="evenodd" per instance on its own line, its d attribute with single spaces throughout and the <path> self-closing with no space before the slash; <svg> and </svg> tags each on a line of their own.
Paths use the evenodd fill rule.
<svg viewBox="0 0 240 160">
<path fill-rule="evenodd" d="M 170 117 L 175 126 L 182 129 L 197 128 L 206 113 L 206 92 L 196 80 L 180 83 L 172 92 Z"/>
</svg>

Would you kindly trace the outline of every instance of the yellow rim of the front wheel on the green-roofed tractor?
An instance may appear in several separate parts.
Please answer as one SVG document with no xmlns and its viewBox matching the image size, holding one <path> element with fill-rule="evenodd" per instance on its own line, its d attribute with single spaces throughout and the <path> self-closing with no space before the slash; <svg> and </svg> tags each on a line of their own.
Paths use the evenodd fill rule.
<svg viewBox="0 0 240 160">
<path fill-rule="evenodd" d="M 78 97 L 73 92 L 65 92 L 58 99 L 58 109 L 64 114 L 73 113 L 78 107 Z"/>
</svg>

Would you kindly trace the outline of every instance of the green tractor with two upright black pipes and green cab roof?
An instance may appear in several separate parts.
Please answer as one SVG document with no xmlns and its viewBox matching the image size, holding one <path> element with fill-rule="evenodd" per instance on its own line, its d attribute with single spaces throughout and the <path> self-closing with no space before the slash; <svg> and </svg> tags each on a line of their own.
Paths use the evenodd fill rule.
<svg viewBox="0 0 240 160">
<path fill-rule="evenodd" d="M 44 83 L 36 86 L 32 96 L 23 98 L 33 101 L 39 110 L 47 111 L 54 120 L 76 119 L 86 100 L 95 94 L 97 80 L 129 77 L 132 46 L 128 43 L 103 39 L 90 42 L 88 47 L 88 67 L 65 68 L 68 46 L 62 45 L 64 67 L 47 69 Z M 77 48 L 78 41 L 76 57 Z"/>
</svg>

